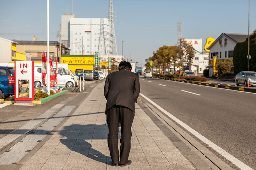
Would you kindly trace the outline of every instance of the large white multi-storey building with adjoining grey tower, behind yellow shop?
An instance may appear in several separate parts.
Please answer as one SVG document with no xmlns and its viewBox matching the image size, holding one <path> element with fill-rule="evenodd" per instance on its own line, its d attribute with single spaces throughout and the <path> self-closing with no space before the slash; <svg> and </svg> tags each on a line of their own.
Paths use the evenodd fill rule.
<svg viewBox="0 0 256 170">
<path fill-rule="evenodd" d="M 93 55 L 96 51 L 101 58 L 113 55 L 113 32 L 107 18 L 75 18 L 74 14 L 61 18 L 62 34 L 68 34 L 62 39 L 69 44 L 71 55 Z"/>
</svg>

